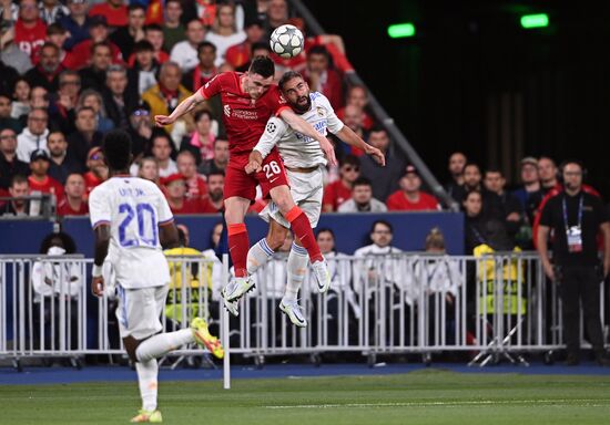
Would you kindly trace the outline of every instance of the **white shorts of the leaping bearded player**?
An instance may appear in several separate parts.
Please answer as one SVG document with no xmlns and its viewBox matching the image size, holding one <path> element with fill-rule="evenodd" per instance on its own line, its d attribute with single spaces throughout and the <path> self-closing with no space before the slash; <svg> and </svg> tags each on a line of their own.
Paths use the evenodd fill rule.
<svg viewBox="0 0 610 425">
<path fill-rule="evenodd" d="M 324 195 L 322 166 L 312 173 L 296 173 L 286 169 L 291 184 L 291 195 L 296 205 L 305 212 L 312 228 L 317 226 L 322 212 L 322 196 Z M 270 218 L 289 229 L 291 224 L 284 218 L 277 205 L 272 200 L 258 216 L 270 222 Z"/>
</svg>

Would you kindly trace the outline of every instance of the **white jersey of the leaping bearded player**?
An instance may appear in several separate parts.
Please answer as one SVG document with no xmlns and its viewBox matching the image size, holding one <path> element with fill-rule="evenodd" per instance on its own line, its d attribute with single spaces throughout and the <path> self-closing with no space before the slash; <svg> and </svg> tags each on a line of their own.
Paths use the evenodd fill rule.
<svg viewBox="0 0 610 425">
<path fill-rule="evenodd" d="M 344 124 L 337 118 L 328 99 L 318 92 L 309 93 L 309 99 L 312 100 L 312 107 L 299 116 L 324 136 L 326 136 L 327 131 L 333 134 L 340 132 Z M 265 132 L 254 149 L 258 151 L 265 158 L 276 144 L 287 167 L 308 168 L 316 165 L 326 165 L 324 152 L 322 152 L 319 143 L 315 138 L 295 132 L 284 120 L 272 116 L 267 121 Z"/>
</svg>

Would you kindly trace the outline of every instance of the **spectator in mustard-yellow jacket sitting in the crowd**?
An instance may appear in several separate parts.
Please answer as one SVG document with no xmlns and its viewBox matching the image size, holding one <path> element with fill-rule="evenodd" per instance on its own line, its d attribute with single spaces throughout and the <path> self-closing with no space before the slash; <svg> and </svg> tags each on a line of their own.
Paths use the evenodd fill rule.
<svg viewBox="0 0 610 425">
<path fill-rule="evenodd" d="M 180 81 L 182 71 L 177 63 L 165 62 L 159 72 L 159 83 L 142 94 L 142 100 L 151 106 L 151 115 L 170 115 L 175 107 L 192 93 Z M 167 133 L 173 125 L 167 125 Z"/>
</svg>

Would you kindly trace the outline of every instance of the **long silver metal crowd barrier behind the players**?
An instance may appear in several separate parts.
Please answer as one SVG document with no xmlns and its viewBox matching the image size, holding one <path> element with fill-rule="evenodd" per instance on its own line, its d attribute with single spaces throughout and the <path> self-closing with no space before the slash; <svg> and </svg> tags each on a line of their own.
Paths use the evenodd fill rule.
<svg viewBox="0 0 610 425">
<path fill-rule="evenodd" d="M 0 356 L 79 357 L 123 354 L 112 297 L 90 294 L 92 260 L 75 256 L 0 257 Z M 309 276 L 301 305 L 309 322 L 294 326 L 277 308 L 286 260 L 276 257 L 255 276 L 256 290 L 230 319 L 231 353 L 256 362 L 278 354 L 478 352 L 474 363 L 562 348 L 561 302 L 538 256 L 506 252 L 450 257 L 423 253 L 356 258 L 329 256 L 331 290 L 318 294 Z M 195 315 L 221 333 L 223 265 L 203 257 L 170 258 L 165 330 Z M 104 269 L 106 282 L 112 270 Z M 106 293 L 112 292 L 112 284 Z M 601 314 L 604 292 L 601 291 Z M 582 320 L 581 320 L 582 322 Z M 589 346 L 583 342 L 583 346 Z M 201 354 L 196 346 L 176 355 Z"/>
</svg>

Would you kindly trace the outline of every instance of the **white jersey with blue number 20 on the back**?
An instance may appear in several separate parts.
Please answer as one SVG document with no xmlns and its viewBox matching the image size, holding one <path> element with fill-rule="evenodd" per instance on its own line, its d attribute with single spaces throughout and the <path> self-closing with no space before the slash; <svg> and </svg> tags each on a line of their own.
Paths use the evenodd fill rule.
<svg viewBox="0 0 610 425">
<path fill-rule="evenodd" d="M 159 225 L 173 220 L 159 187 L 138 177 L 115 176 L 89 196 L 91 225 L 110 225 L 108 259 L 116 282 L 138 289 L 170 283 L 167 260 L 159 242 Z"/>
</svg>

